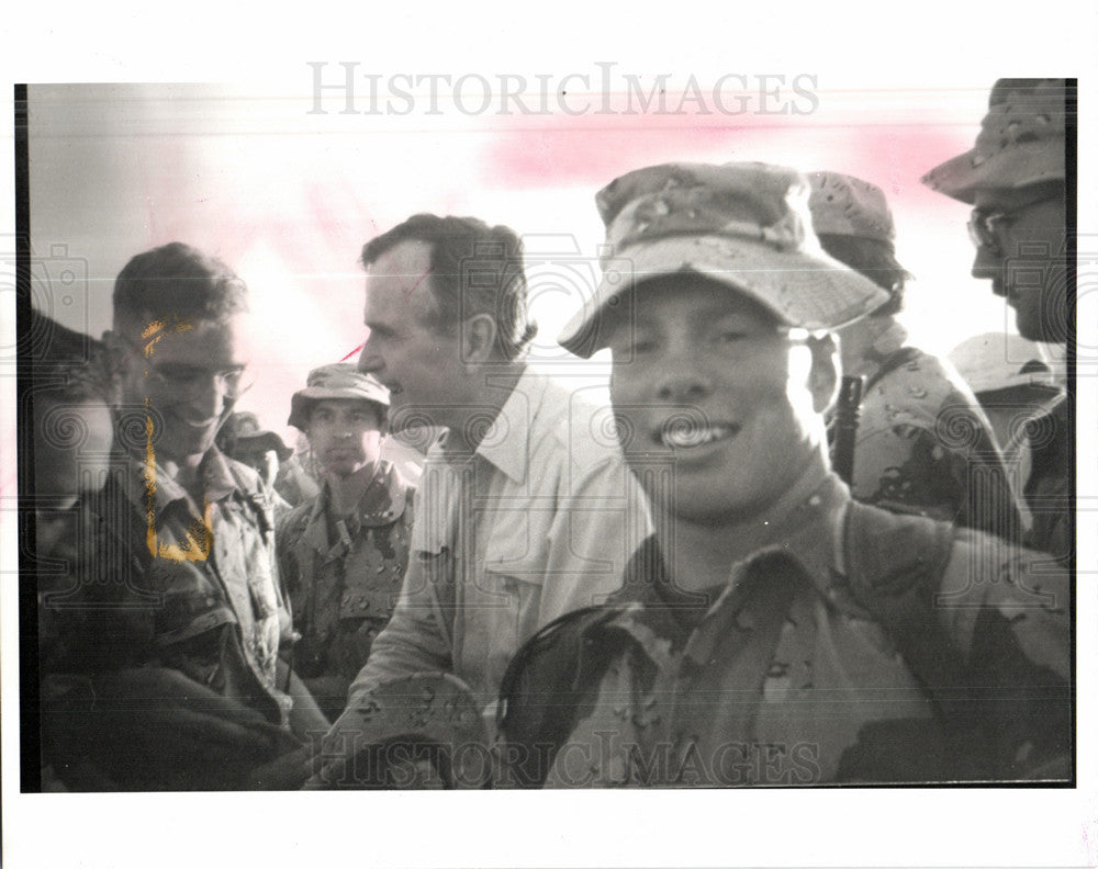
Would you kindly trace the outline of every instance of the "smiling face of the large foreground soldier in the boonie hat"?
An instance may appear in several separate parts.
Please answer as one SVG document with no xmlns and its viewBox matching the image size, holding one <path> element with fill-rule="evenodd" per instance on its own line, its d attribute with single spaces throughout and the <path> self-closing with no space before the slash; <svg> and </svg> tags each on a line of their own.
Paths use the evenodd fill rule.
<svg viewBox="0 0 1098 869">
<path fill-rule="evenodd" d="M 814 377 L 809 348 L 722 284 L 682 274 L 635 292 L 635 320 L 612 325 L 610 340 L 626 461 L 674 516 L 758 516 L 820 455 L 833 369 Z M 642 472 L 668 463 L 671 490 L 646 485 L 658 475 Z"/>
</svg>

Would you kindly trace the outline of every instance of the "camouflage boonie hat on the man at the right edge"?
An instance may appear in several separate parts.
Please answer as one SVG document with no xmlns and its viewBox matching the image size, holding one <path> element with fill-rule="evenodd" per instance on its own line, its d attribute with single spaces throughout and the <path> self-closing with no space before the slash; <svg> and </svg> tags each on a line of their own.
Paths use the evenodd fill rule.
<svg viewBox="0 0 1098 869">
<path fill-rule="evenodd" d="M 931 169 L 923 184 L 973 205 L 977 190 L 1064 180 L 1065 79 L 999 79 L 988 106 L 976 147 Z"/>
</svg>

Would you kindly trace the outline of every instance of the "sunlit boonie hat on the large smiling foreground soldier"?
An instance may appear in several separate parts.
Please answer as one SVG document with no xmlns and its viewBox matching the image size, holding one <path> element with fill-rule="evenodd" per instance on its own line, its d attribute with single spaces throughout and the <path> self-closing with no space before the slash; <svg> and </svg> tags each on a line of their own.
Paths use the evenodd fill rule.
<svg viewBox="0 0 1098 869">
<path fill-rule="evenodd" d="M 645 280 L 688 271 L 810 330 L 881 307 L 887 294 L 805 232 L 806 198 L 796 171 L 760 162 L 665 163 L 618 178 L 595 198 L 606 225 L 602 283 L 559 342 L 590 357 L 606 346 L 597 327 L 613 298 Z"/>
</svg>

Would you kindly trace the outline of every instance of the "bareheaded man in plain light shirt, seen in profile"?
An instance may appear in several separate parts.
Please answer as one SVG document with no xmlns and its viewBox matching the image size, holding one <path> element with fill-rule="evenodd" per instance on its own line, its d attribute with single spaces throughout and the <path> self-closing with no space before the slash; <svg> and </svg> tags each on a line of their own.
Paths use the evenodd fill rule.
<svg viewBox="0 0 1098 869">
<path fill-rule="evenodd" d="M 514 232 L 415 215 L 368 242 L 362 263 L 359 370 L 389 388 L 394 431 L 447 432 L 424 466 L 401 599 L 325 741 L 317 786 L 356 785 L 343 768 L 372 740 L 386 681 L 451 674 L 491 710 L 518 646 L 614 591 L 647 527 L 608 411 L 527 365 L 536 326 Z"/>
</svg>

